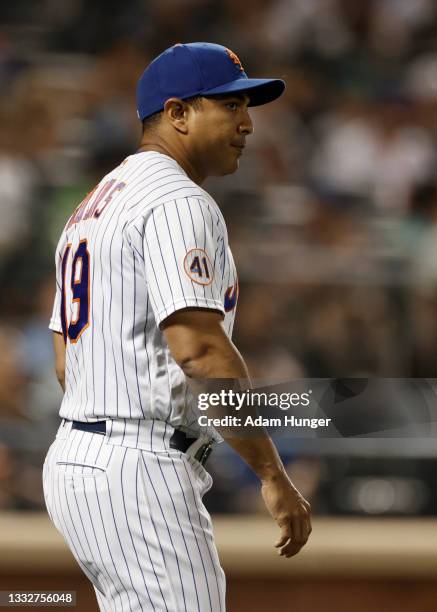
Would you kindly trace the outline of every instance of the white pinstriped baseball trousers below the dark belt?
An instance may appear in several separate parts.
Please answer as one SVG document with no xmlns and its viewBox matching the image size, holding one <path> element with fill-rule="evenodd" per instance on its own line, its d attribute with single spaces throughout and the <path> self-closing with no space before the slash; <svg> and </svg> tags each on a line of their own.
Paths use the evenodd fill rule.
<svg viewBox="0 0 437 612">
<path fill-rule="evenodd" d="M 104 436 L 64 421 L 44 463 L 49 516 L 100 610 L 224 612 L 225 578 L 202 502 L 212 478 L 170 449 L 168 425 L 141 426 L 147 431 L 113 421 Z"/>
</svg>

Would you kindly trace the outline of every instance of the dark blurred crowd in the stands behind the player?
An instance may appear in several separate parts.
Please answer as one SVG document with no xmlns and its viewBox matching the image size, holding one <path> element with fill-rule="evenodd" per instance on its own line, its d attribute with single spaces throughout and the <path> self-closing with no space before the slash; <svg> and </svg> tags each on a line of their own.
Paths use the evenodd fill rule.
<svg viewBox="0 0 437 612">
<path fill-rule="evenodd" d="M 228 222 L 235 342 L 253 376 L 436 377 L 436 0 L 3 3 L 0 510 L 43 504 L 61 398 L 47 329 L 57 238 L 136 150 L 144 67 L 197 40 L 230 47 L 250 76 L 287 82 L 275 104 L 253 109 L 239 172 L 205 184 Z M 338 510 L 325 494 L 343 496 L 338 471 L 292 443 L 282 450 L 316 510 Z M 223 450 L 212 466 L 210 507 L 253 508 L 247 470 Z M 375 510 L 364 496 L 350 511 L 428 511 L 423 466 L 410 472 L 398 478 L 414 482 L 409 499 L 422 483 L 422 505 Z M 378 499 L 394 499 L 398 485 L 374 477 Z"/>
</svg>

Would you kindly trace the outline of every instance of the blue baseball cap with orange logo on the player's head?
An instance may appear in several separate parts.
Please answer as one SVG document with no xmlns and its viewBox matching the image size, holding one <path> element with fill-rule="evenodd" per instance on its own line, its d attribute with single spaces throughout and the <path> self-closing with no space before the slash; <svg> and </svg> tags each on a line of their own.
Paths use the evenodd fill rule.
<svg viewBox="0 0 437 612">
<path fill-rule="evenodd" d="M 283 93 L 281 79 L 249 79 L 237 55 L 214 43 L 177 44 L 158 55 L 137 86 L 138 117 L 164 108 L 169 98 L 247 92 L 249 106 L 272 102 Z"/>
</svg>

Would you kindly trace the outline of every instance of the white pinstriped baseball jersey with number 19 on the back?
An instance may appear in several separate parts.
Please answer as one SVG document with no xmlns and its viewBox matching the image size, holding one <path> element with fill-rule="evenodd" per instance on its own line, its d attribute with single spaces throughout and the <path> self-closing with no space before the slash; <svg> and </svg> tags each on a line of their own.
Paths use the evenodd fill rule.
<svg viewBox="0 0 437 612">
<path fill-rule="evenodd" d="M 238 280 L 211 196 L 166 155 L 129 156 L 68 221 L 56 276 L 49 327 L 66 340 L 60 415 L 154 418 L 198 433 L 159 324 L 194 306 L 222 312 L 232 334 Z"/>
</svg>

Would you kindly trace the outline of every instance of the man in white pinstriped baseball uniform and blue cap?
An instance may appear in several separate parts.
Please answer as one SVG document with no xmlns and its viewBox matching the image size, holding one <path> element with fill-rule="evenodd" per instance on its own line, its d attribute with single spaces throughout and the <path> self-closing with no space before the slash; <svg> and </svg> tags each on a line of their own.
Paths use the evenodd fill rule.
<svg viewBox="0 0 437 612">
<path fill-rule="evenodd" d="M 225 578 L 203 494 L 219 433 L 189 381 L 248 380 L 231 341 L 238 280 L 219 207 L 201 185 L 235 172 L 248 106 L 281 95 L 210 43 L 164 51 L 138 83 L 140 149 L 68 220 L 56 251 L 62 424 L 44 464 L 53 523 L 101 610 L 222 612 Z M 290 557 L 310 509 L 267 435 L 226 441 L 259 476 Z"/>
</svg>

